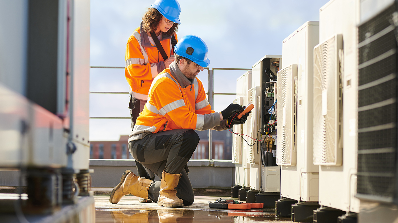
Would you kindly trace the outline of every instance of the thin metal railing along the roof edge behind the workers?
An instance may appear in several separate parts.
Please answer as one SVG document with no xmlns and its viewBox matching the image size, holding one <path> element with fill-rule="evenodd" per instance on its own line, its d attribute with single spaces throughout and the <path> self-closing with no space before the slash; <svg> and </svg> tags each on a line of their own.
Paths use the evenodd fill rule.
<svg viewBox="0 0 398 223">
<path fill-rule="evenodd" d="M 124 69 L 125 67 L 90 67 L 90 68 L 101 68 L 101 69 Z M 245 68 L 215 68 L 210 69 L 209 67 L 204 67 L 208 71 L 208 92 L 206 92 L 209 98 L 209 104 L 213 108 L 213 101 L 215 95 L 236 95 L 236 93 L 218 93 L 214 92 L 214 71 L 215 70 L 230 70 L 230 71 L 250 71 L 250 69 Z M 130 94 L 129 92 L 112 92 L 112 91 L 90 91 L 90 94 Z M 90 117 L 90 119 L 131 119 L 131 117 Z M 213 160 L 213 132 L 209 129 L 209 161 Z"/>
</svg>

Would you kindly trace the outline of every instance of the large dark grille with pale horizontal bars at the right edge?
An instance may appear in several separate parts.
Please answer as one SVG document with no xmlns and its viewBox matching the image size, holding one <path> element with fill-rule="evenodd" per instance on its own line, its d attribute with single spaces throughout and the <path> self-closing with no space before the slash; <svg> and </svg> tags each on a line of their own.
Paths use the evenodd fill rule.
<svg viewBox="0 0 398 223">
<path fill-rule="evenodd" d="M 381 201 L 396 196 L 398 67 L 396 27 L 389 20 L 397 13 L 393 4 L 358 27 L 357 193 Z M 383 30 L 390 31 L 380 35 Z"/>
</svg>

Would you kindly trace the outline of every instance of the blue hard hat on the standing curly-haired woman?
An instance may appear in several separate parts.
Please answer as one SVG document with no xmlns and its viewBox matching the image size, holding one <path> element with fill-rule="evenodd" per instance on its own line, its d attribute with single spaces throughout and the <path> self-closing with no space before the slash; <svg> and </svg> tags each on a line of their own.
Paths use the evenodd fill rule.
<svg viewBox="0 0 398 223">
<path fill-rule="evenodd" d="M 156 0 L 151 6 L 156 8 L 166 19 L 180 24 L 179 13 L 181 8 L 176 0 Z"/>
</svg>

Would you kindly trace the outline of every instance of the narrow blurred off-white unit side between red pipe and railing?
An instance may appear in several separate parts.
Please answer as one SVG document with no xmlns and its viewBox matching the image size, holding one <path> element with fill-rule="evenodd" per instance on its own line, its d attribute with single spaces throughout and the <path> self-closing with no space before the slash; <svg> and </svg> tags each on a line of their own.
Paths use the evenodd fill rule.
<svg viewBox="0 0 398 223">
<path fill-rule="evenodd" d="M 70 140 L 76 145 L 74 169 L 88 169 L 90 142 L 88 140 L 90 83 L 90 1 L 72 1 L 72 103 L 70 104 Z"/>
</svg>

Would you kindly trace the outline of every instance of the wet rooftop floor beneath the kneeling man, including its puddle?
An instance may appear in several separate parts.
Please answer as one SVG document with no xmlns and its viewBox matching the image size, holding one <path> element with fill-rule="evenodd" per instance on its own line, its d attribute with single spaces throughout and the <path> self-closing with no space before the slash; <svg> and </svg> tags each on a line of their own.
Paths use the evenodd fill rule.
<svg viewBox="0 0 398 223">
<path fill-rule="evenodd" d="M 156 203 L 139 203 L 135 196 L 125 196 L 118 204 L 111 204 L 109 196 L 94 196 L 96 223 L 223 223 L 223 222 L 280 222 L 291 223 L 290 218 L 275 217 L 275 209 L 228 210 L 209 208 L 209 201 L 219 197 L 196 196 L 191 206 L 164 208 Z M 233 198 L 222 197 L 229 200 Z M 235 198 L 236 200 L 236 198 Z"/>
</svg>

